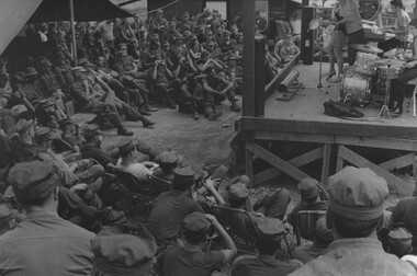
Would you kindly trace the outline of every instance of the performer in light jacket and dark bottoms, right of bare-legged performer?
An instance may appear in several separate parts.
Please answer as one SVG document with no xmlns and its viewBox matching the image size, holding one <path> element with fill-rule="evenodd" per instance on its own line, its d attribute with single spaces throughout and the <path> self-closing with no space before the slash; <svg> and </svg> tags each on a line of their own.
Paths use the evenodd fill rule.
<svg viewBox="0 0 417 276">
<path fill-rule="evenodd" d="M 337 25 L 345 25 L 348 41 L 348 62 L 350 66 L 354 64 L 357 50 L 350 47 L 352 44 L 364 44 L 364 31 L 362 27 L 362 18 L 359 13 L 357 0 L 340 0 L 340 10 L 338 12 L 341 18 Z"/>
</svg>

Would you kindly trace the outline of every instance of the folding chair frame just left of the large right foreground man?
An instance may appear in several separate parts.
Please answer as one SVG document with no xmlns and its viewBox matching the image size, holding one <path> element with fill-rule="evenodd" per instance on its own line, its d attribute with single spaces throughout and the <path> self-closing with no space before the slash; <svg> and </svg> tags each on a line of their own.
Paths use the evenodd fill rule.
<svg viewBox="0 0 417 276">
<path fill-rule="evenodd" d="M 317 220 L 323 216 L 326 216 L 326 210 L 300 210 L 296 214 L 295 237 L 297 245 L 301 244 L 301 238 L 313 241 Z"/>
</svg>

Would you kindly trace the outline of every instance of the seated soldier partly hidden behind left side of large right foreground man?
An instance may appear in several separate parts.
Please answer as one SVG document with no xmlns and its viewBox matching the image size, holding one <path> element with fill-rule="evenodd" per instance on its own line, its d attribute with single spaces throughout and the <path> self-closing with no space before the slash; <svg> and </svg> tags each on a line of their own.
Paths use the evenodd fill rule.
<svg viewBox="0 0 417 276">
<path fill-rule="evenodd" d="M 313 242 L 295 248 L 293 253 L 294 258 L 301 261 L 303 264 L 306 264 L 309 261 L 316 260 L 326 254 L 331 242 L 331 230 L 326 226 L 326 218 L 322 217 L 317 220 Z"/>
</svg>

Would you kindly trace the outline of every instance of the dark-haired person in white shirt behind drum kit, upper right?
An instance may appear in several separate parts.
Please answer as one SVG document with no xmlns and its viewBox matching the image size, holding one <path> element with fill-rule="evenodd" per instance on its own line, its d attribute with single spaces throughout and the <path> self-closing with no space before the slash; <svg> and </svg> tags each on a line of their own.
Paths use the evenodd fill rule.
<svg viewBox="0 0 417 276">
<path fill-rule="evenodd" d="M 395 19 L 395 28 L 383 28 L 384 33 L 393 33 L 395 37 L 377 44 L 377 47 L 384 53 L 394 48 L 405 48 L 407 46 L 408 30 L 410 19 L 404 11 L 404 3 L 402 0 L 392 0 L 390 2 L 391 9 L 397 15 Z M 382 56 L 383 54 L 381 54 Z"/>
</svg>

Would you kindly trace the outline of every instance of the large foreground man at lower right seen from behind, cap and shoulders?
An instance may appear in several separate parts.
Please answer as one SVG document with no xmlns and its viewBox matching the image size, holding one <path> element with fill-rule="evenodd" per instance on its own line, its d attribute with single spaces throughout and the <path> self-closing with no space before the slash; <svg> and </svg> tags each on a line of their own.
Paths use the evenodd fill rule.
<svg viewBox="0 0 417 276">
<path fill-rule="evenodd" d="M 346 166 L 328 180 L 327 227 L 335 241 L 326 254 L 290 274 L 416 275 L 415 268 L 384 252 L 376 239 L 383 223 L 386 181 L 368 168 Z"/>
</svg>

